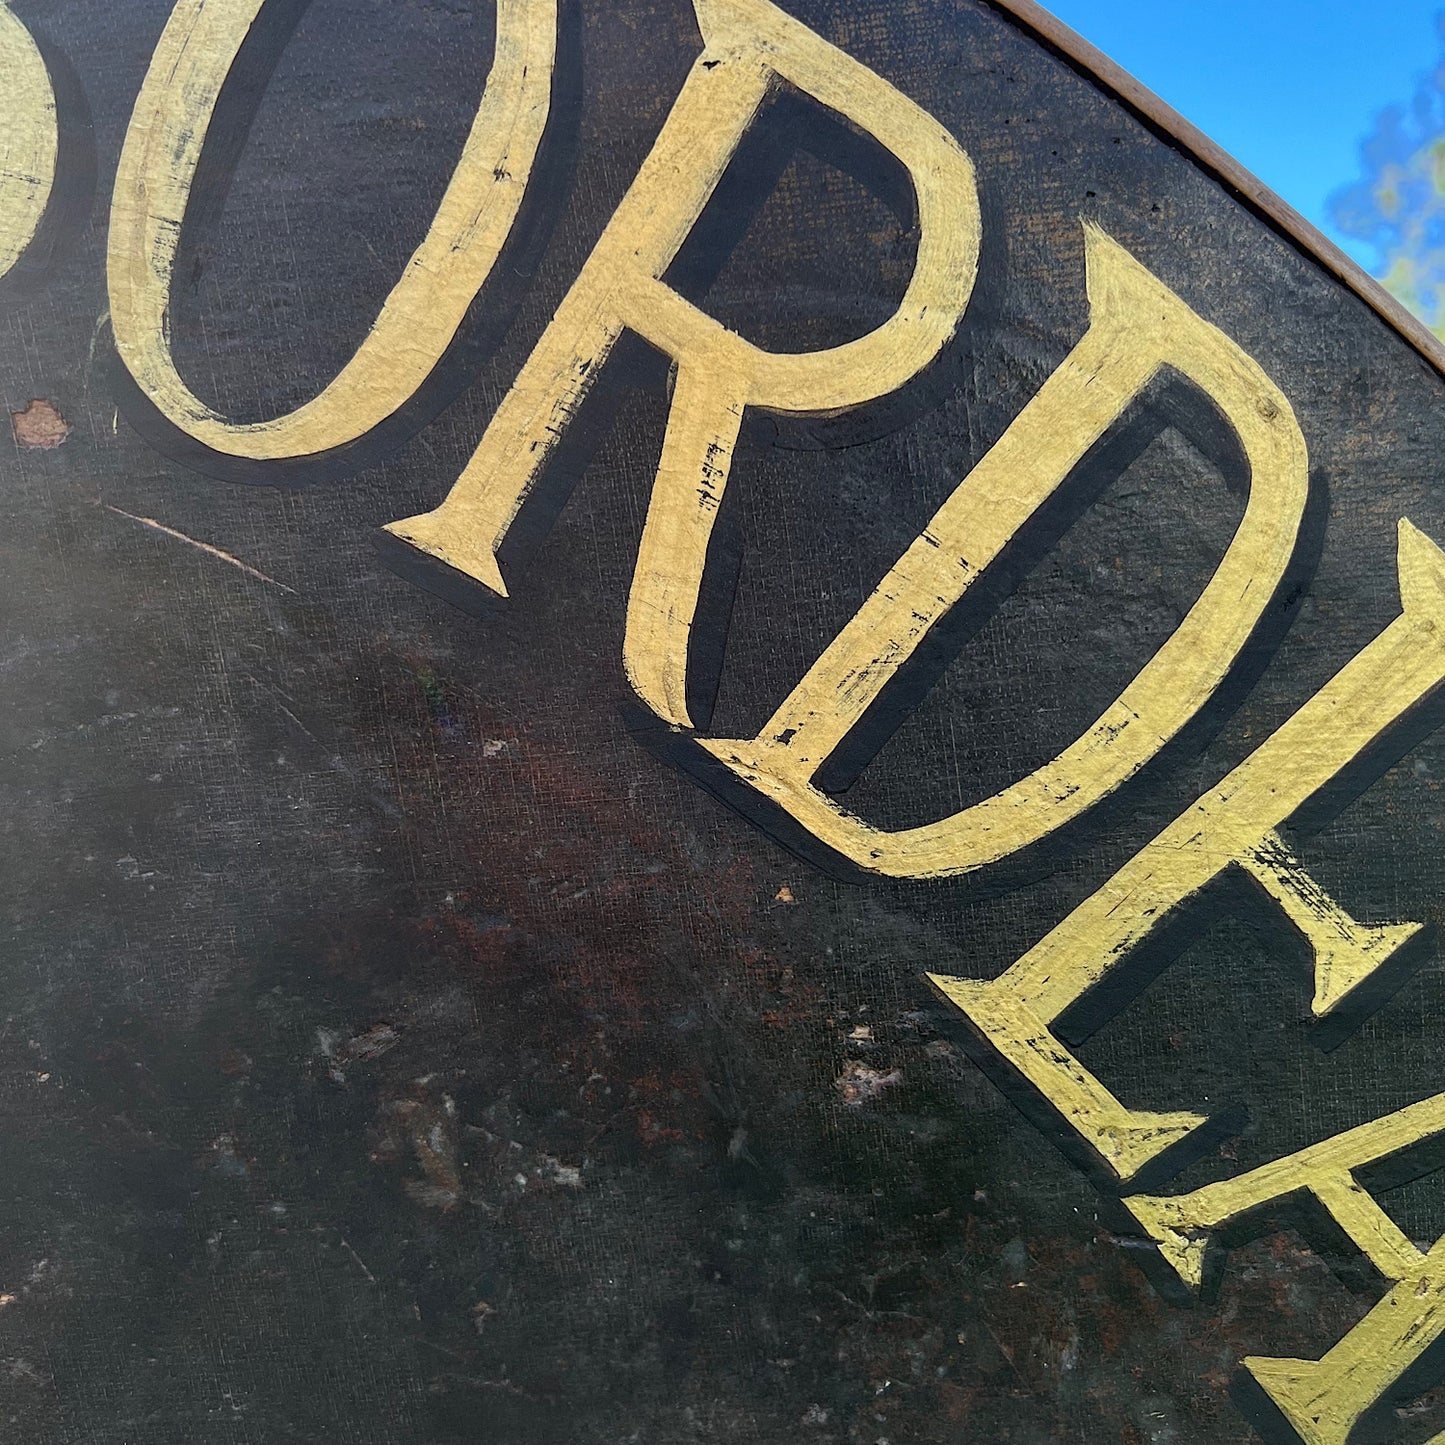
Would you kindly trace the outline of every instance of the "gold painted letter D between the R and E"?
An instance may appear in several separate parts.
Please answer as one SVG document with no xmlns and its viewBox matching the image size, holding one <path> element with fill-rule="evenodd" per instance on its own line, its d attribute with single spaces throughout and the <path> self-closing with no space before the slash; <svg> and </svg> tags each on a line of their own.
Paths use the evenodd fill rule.
<svg viewBox="0 0 1445 1445">
<path fill-rule="evenodd" d="M 1218 688 L 1289 565 L 1309 486 L 1285 396 L 1103 231 L 1087 227 L 1090 328 L 756 738 L 701 746 L 861 868 L 936 879 L 1006 858 L 1117 789 Z M 897 670 L 1162 367 L 1224 410 L 1250 501 L 1173 636 L 1053 762 L 939 822 L 884 832 L 812 786 Z"/>
</svg>

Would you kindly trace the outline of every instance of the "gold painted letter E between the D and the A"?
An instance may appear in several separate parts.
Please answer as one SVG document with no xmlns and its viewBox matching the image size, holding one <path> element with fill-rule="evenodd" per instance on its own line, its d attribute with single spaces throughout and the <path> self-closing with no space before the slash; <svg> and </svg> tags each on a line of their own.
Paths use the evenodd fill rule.
<svg viewBox="0 0 1445 1445">
<path fill-rule="evenodd" d="M 1399 571 L 1402 616 L 1012 968 L 993 981 L 931 975 L 1123 1179 L 1204 1118 L 1126 1108 L 1051 1025 L 1181 903 L 1225 868 L 1267 879 L 1269 893 L 1315 948 L 1316 1016 L 1337 1010 L 1415 933 L 1413 926 L 1355 923 L 1332 902 L 1324 910 L 1309 906 L 1312 890 L 1298 880 L 1298 864 L 1277 837 L 1366 747 L 1445 683 L 1445 555 L 1403 520 Z"/>
</svg>

